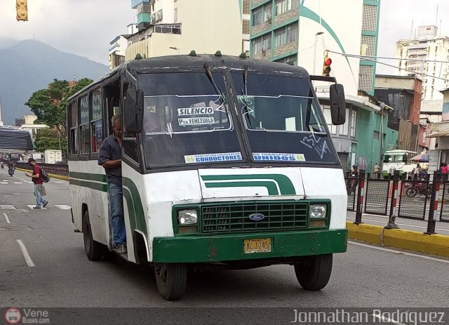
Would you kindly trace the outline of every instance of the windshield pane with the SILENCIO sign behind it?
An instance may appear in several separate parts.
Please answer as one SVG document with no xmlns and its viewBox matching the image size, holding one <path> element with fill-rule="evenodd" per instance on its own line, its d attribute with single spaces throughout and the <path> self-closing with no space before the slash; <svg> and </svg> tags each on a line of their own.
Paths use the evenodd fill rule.
<svg viewBox="0 0 449 325">
<path fill-rule="evenodd" d="M 144 92 L 145 163 L 149 166 L 241 161 L 241 147 L 221 73 L 138 75 Z"/>
</svg>

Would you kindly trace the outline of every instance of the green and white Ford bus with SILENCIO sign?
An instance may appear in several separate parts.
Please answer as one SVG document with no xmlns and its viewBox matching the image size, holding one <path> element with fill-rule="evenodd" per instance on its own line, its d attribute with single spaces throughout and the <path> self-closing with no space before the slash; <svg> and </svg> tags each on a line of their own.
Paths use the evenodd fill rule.
<svg viewBox="0 0 449 325">
<path fill-rule="evenodd" d="M 293 265 L 300 285 L 328 283 L 347 249 L 347 192 L 312 80 L 301 67 L 220 55 L 125 62 L 67 103 L 72 215 L 89 260 L 112 248 L 98 165 L 111 118 L 123 119 L 123 208 L 132 263 L 152 263 L 166 300 L 189 267 Z"/>
</svg>

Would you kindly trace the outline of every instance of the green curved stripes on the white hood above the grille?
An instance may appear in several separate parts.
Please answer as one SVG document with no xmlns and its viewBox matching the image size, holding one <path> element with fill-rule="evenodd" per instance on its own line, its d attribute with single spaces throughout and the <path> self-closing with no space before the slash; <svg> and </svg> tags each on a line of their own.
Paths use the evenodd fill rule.
<svg viewBox="0 0 449 325">
<path fill-rule="evenodd" d="M 206 187 L 248 187 L 248 186 L 262 186 L 267 187 L 269 195 L 279 195 L 279 191 L 274 183 L 277 183 L 281 195 L 295 195 L 295 187 L 292 181 L 286 175 L 282 174 L 255 174 L 255 175 L 201 175 Z M 223 182 L 223 183 L 210 183 L 206 181 L 214 180 L 234 180 L 234 182 Z M 255 180 L 255 181 L 250 181 Z M 264 183 L 261 185 L 260 183 Z M 239 185 L 241 183 L 241 185 Z M 253 185 L 248 185 L 248 183 L 253 183 Z M 256 183 L 259 183 L 256 185 Z M 218 185 L 223 184 L 223 185 Z M 272 187 L 275 187 L 273 190 Z"/>
</svg>

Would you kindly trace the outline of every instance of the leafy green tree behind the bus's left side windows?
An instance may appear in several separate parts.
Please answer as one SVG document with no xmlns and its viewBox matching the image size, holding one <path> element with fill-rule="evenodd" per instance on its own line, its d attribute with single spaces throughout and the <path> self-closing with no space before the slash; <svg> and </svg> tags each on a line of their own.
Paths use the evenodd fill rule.
<svg viewBox="0 0 449 325">
<path fill-rule="evenodd" d="M 36 123 L 56 128 L 62 138 L 66 138 L 67 99 L 92 82 L 92 79 L 83 78 L 71 87 L 67 80 L 53 79 L 48 88 L 35 91 L 25 105 L 29 106 L 31 111 L 36 114 Z"/>
</svg>

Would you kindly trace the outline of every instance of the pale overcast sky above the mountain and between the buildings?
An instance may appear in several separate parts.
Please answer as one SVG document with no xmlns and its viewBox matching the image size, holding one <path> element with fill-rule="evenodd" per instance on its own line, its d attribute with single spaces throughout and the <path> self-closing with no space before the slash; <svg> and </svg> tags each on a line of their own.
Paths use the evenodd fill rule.
<svg viewBox="0 0 449 325">
<path fill-rule="evenodd" d="M 15 1 L 0 0 L 0 39 L 36 39 L 107 65 L 109 42 L 127 33 L 135 13 L 131 0 L 28 0 L 29 21 L 18 22 Z M 414 35 L 419 25 L 439 27 L 441 20 L 440 32 L 449 36 L 448 16 L 449 0 L 381 0 L 377 55 L 394 57 L 396 41 Z M 378 65 L 377 73 L 392 74 L 394 69 Z"/>
</svg>

